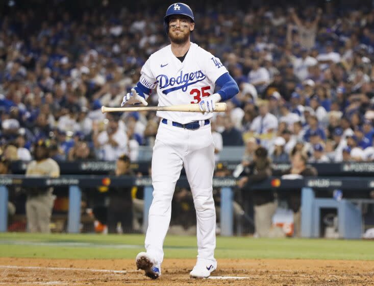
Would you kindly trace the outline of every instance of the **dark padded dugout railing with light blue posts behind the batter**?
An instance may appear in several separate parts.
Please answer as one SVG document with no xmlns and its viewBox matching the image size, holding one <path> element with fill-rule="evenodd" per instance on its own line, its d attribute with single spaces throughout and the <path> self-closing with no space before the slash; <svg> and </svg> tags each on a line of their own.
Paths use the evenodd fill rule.
<svg viewBox="0 0 374 286">
<path fill-rule="evenodd" d="M 220 227 L 221 235 L 233 235 L 233 188 L 237 185 L 238 178 L 214 177 L 213 187 L 220 187 Z M 111 177 L 99 175 L 62 175 L 59 178 L 30 178 L 24 175 L 2 175 L 0 176 L 0 232 L 7 230 L 7 203 L 8 186 L 22 187 L 61 187 L 69 188 L 69 208 L 67 231 L 78 233 L 80 230 L 81 216 L 81 188 L 98 186 L 143 186 L 144 187 L 144 210 L 143 210 L 143 231 L 147 227 L 148 210 L 152 203 L 152 180 L 149 177 Z M 188 187 L 186 177 L 181 177 L 177 182 L 178 186 Z M 319 190 L 340 189 L 348 192 L 370 192 L 374 189 L 374 177 L 315 177 L 304 179 L 282 179 L 273 177 L 262 183 L 256 184 L 252 189 L 275 189 L 287 192 L 290 189 L 302 190 L 302 236 L 318 237 L 318 207 L 336 208 L 342 223 L 342 238 L 360 238 L 362 233 L 362 218 L 360 203 L 372 203 L 373 200 L 355 199 L 354 205 L 349 200 L 336 201 L 333 198 L 318 199 L 316 192 Z M 342 204 L 346 204 L 341 207 Z M 344 224 L 343 224 L 344 223 Z M 339 231 L 340 231 L 339 230 Z M 345 232 L 344 232 L 345 230 Z"/>
</svg>

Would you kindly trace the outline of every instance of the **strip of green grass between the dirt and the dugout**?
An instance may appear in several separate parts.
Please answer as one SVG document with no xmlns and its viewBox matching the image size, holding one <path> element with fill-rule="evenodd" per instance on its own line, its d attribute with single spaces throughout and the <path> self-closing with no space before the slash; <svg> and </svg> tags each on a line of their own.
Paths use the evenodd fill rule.
<svg viewBox="0 0 374 286">
<path fill-rule="evenodd" d="M 131 258 L 144 235 L 0 233 L 0 257 Z M 167 236 L 165 258 L 195 258 L 196 237 Z M 374 260 L 372 241 L 217 237 L 216 258 Z"/>
</svg>

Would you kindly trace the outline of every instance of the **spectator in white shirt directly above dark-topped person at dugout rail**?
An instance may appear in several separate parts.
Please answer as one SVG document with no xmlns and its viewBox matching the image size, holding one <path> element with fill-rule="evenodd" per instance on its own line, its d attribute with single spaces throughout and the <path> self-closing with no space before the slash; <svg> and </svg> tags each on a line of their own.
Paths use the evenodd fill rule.
<svg viewBox="0 0 374 286">
<path fill-rule="evenodd" d="M 251 131 L 260 135 L 261 145 L 265 148 L 270 147 L 271 139 L 278 129 L 278 119 L 269 113 L 268 102 L 262 102 L 259 106 L 260 115 L 258 115 L 251 124 Z"/>
</svg>

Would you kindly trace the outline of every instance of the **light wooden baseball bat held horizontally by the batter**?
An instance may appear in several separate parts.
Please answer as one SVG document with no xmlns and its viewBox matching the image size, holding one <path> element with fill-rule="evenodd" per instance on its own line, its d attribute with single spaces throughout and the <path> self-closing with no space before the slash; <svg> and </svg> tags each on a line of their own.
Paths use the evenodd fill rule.
<svg viewBox="0 0 374 286">
<path fill-rule="evenodd" d="M 226 111 L 226 103 L 216 103 L 215 112 Z M 102 112 L 124 112 L 124 111 L 182 111 L 182 112 L 201 112 L 197 103 L 181 104 L 170 106 L 139 106 L 139 107 L 106 107 L 102 106 Z"/>
</svg>

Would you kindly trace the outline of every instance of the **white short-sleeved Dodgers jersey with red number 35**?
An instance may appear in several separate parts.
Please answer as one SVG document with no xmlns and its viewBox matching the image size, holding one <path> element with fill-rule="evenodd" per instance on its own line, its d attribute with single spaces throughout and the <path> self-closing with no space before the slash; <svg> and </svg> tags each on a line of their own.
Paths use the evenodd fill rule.
<svg viewBox="0 0 374 286">
<path fill-rule="evenodd" d="M 213 94 L 216 80 L 227 72 L 218 58 L 195 43 L 183 62 L 168 45 L 145 62 L 139 82 L 151 89 L 157 86 L 159 106 L 198 103 Z M 212 113 L 157 111 L 157 116 L 185 124 L 211 118 Z"/>
</svg>

